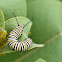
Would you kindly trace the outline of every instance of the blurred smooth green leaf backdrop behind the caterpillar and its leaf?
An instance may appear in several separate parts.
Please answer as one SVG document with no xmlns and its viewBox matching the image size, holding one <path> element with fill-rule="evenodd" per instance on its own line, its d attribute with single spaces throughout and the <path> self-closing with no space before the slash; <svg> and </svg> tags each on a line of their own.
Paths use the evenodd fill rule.
<svg viewBox="0 0 62 62">
<path fill-rule="evenodd" d="M 43 48 L 13 52 L 0 56 L 1 62 L 62 62 L 62 0 L 0 0 L 5 20 L 24 16 L 32 20 L 33 42 L 45 43 Z M 43 62 L 43 61 L 42 61 Z"/>
</svg>

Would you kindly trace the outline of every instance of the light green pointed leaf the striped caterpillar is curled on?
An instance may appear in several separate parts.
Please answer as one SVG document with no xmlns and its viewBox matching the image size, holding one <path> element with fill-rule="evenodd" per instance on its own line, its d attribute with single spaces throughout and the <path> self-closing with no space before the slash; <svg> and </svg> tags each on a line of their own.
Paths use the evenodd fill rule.
<svg viewBox="0 0 62 62">
<path fill-rule="evenodd" d="M 21 24 L 26 24 L 28 23 L 30 20 L 26 17 L 16 17 L 17 18 L 17 21 L 19 23 L 19 25 Z M 23 31 L 23 35 L 21 38 L 19 38 L 19 42 L 21 41 L 24 41 L 26 38 L 28 38 L 28 35 L 29 35 L 29 31 L 31 29 L 31 25 L 32 25 L 32 22 L 30 22 L 25 28 L 24 28 L 24 31 Z M 9 33 L 14 29 L 16 28 L 18 25 L 17 25 L 17 22 L 16 22 L 16 19 L 15 18 L 11 18 L 11 19 L 8 19 L 6 21 L 6 24 L 5 24 L 5 28 L 8 32 L 8 35 Z M 35 43 L 32 43 L 30 49 L 33 49 L 35 47 L 43 47 L 44 45 L 43 44 L 35 44 Z M 29 49 L 29 50 L 30 50 Z M 10 52 L 15 52 L 13 51 L 11 48 L 9 48 L 8 46 L 8 43 L 6 43 L 6 47 L 0 52 L 0 54 L 3 54 L 3 53 L 10 53 Z"/>
</svg>

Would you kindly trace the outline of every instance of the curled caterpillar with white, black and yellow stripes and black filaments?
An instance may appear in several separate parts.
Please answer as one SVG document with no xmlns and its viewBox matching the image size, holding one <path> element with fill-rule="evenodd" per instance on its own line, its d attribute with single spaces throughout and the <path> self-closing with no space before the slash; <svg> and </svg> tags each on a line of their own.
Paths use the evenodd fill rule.
<svg viewBox="0 0 62 62">
<path fill-rule="evenodd" d="M 17 19 L 16 19 L 16 21 L 17 21 Z M 31 22 L 31 21 L 29 21 L 29 22 Z M 18 23 L 18 21 L 17 21 L 17 23 Z M 10 34 L 8 36 L 8 42 L 9 42 L 9 46 L 11 49 L 21 52 L 21 51 L 27 50 L 31 46 L 32 39 L 30 39 L 30 38 L 27 38 L 25 41 L 18 42 L 18 38 L 23 34 L 23 30 L 26 25 L 18 24 L 18 27 L 13 29 L 13 31 L 10 32 Z"/>
</svg>

